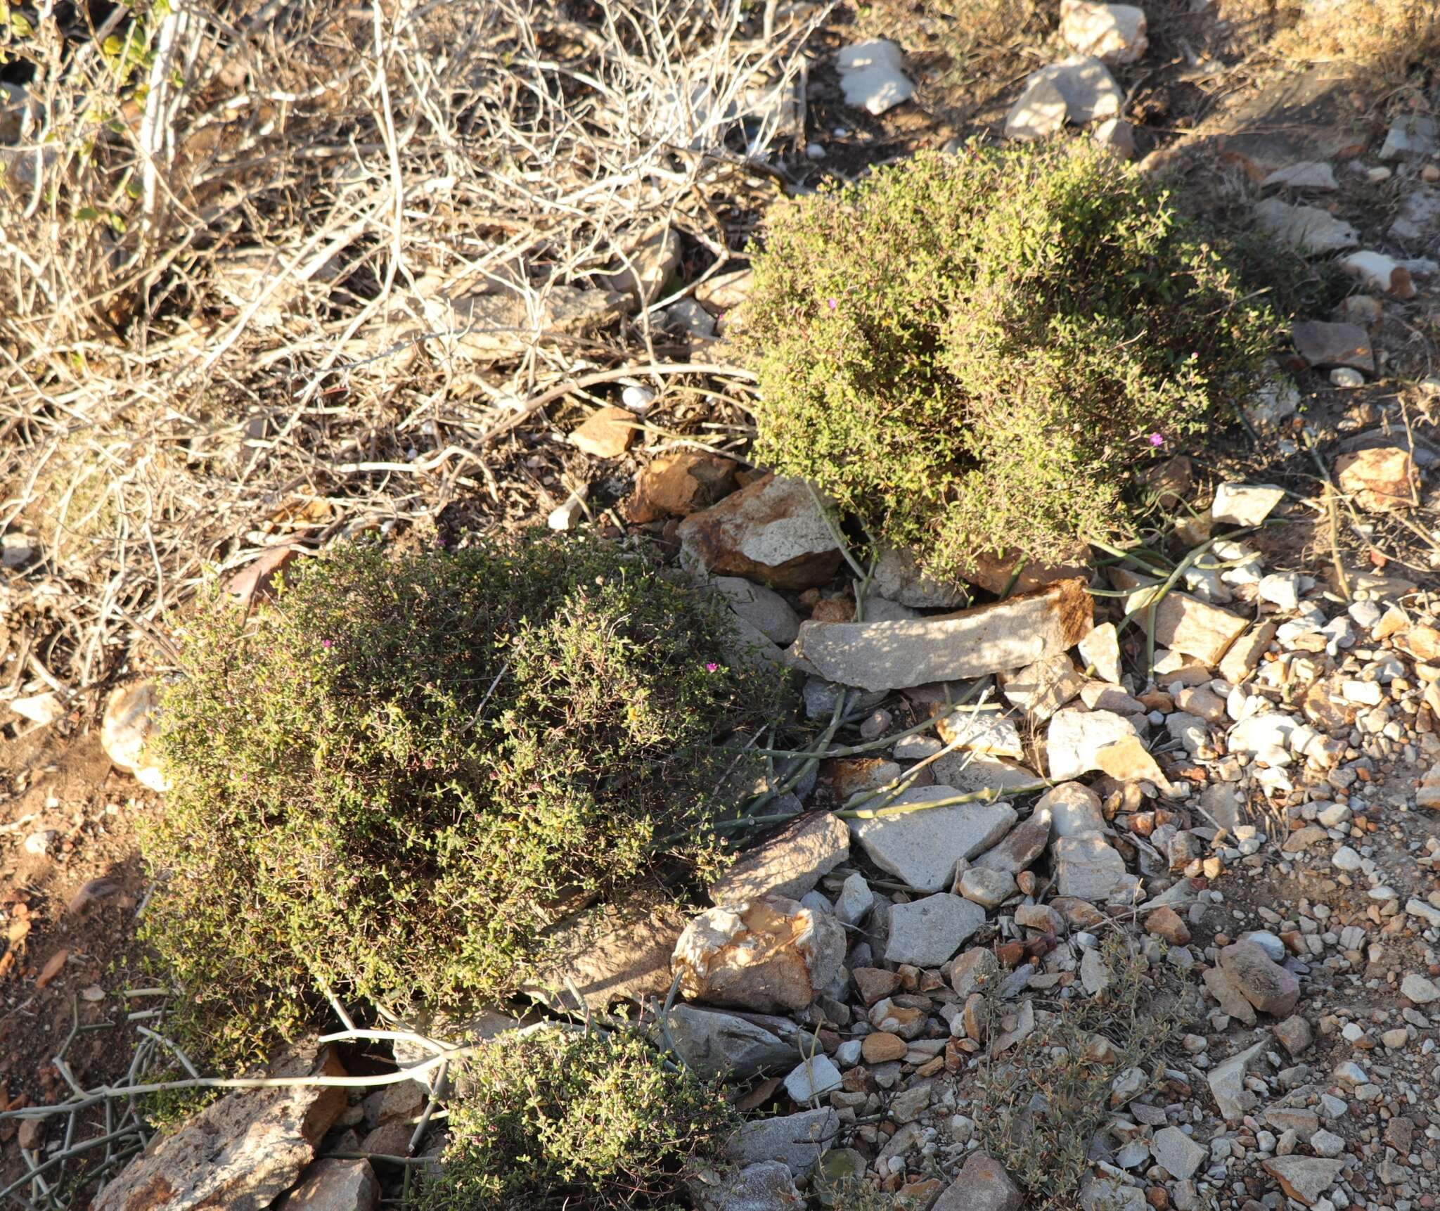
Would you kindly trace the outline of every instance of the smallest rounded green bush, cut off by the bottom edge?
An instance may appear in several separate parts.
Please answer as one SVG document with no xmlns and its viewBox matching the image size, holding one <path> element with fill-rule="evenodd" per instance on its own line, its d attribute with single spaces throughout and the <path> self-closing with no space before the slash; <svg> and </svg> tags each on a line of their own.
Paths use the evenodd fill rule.
<svg viewBox="0 0 1440 1211">
<path fill-rule="evenodd" d="M 501 1037 L 458 1086 L 423 1211 L 678 1208 L 687 1165 L 737 1125 L 720 1093 L 625 1035 Z"/>
</svg>

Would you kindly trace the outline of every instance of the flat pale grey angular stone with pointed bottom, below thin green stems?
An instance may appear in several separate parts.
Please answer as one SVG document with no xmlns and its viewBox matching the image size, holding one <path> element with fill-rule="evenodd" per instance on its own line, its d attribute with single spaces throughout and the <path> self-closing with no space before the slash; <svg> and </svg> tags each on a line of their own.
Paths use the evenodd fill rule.
<svg viewBox="0 0 1440 1211">
<path fill-rule="evenodd" d="M 955 863 L 988 850 L 1015 825 L 1009 803 L 953 803 L 891 812 L 909 803 L 950 799 L 953 786 L 914 786 L 896 796 L 886 815 L 852 819 L 850 831 L 865 855 L 883 871 L 917 891 L 950 886 Z"/>
</svg>

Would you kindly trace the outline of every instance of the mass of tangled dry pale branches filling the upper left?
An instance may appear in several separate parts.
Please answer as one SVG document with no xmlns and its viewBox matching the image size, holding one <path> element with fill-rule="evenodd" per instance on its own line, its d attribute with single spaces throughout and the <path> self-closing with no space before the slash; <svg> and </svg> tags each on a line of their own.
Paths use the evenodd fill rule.
<svg viewBox="0 0 1440 1211">
<path fill-rule="evenodd" d="M 828 9 L 769 36 L 773 6 L 747 9 L 158 0 L 12 23 L 0 530 L 43 564 L 3 603 L 36 639 L 0 697 L 105 683 L 266 544 L 543 507 L 497 480 L 530 452 L 501 422 L 688 361 L 657 315 L 726 269 L 804 130 Z M 690 287 L 556 331 L 664 229 Z"/>
</svg>

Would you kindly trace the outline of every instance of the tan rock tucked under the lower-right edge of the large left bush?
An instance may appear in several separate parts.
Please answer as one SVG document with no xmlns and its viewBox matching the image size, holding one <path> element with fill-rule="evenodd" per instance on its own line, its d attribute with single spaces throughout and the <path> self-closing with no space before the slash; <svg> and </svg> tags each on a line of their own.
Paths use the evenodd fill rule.
<svg viewBox="0 0 1440 1211">
<path fill-rule="evenodd" d="M 544 968 L 524 991 L 577 1009 L 573 985 L 596 1012 L 615 1001 L 664 996 L 670 955 L 684 927 L 684 913 L 658 893 L 636 891 L 618 904 L 590 909 L 560 927 Z"/>
</svg>

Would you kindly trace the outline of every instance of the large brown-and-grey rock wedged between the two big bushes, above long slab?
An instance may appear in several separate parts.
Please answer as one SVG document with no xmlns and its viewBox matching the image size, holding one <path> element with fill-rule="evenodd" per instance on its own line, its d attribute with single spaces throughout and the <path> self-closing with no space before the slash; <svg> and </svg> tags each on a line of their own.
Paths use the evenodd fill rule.
<svg viewBox="0 0 1440 1211">
<path fill-rule="evenodd" d="M 809 589 L 840 570 L 835 536 L 804 480 L 763 475 L 693 513 L 678 534 L 688 564 L 772 589 Z"/>
</svg>

